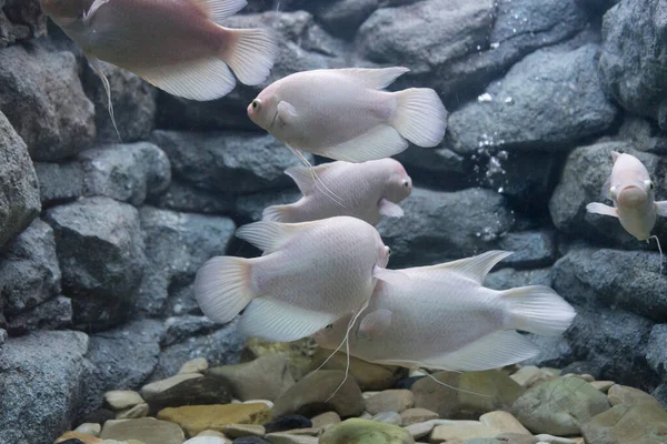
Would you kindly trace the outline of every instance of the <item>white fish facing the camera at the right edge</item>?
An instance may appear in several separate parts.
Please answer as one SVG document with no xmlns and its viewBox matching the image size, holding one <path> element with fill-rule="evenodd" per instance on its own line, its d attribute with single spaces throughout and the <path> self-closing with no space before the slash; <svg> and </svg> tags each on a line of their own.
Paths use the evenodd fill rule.
<svg viewBox="0 0 667 444">
<path fill-rule="evenodd" d="M 654 182 L 639 159 L 616 151 L 611 151 L 611 159 L 614 167 L 605 191 L 614 206 L 594 202 L 586 205 L 586 210 L 617 218 L 623 228 L 639 241 L 656 238 L 650 232 L 657 215 L 667 216 L 667 201 L 655 201 Z"/>
</svg>

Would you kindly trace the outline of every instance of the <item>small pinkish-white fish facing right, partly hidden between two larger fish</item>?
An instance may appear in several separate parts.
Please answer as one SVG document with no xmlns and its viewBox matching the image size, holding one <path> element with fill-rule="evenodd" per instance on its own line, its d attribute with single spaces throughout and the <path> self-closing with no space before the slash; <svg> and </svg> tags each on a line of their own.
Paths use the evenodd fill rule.
<svg viewBox="0 0 667 444">
<path fill-rule="evenodd" d="M 349 215 L 376 225 L 381 215 L 401 218 L 400 201 L 410 195 L 412 180 L 394 159 L 364 163 L 337 161 L 315 167 L 325 188 L 312 179 L 308 168 L 293 167 L 286 173 L 295 180 L 303 196 L 289 205 L 273 205 L 263 211 L 263 220 L 306 222 L 336 215 Z M 340 198 L 328 199 L 327 191 Z"/>
</svg>

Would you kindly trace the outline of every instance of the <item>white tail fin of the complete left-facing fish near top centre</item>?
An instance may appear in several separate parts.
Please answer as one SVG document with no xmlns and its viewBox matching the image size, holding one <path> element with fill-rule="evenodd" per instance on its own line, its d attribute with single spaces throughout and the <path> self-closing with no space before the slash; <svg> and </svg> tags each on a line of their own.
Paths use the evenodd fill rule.
<svg viewBox="0 0 667 444">
<path fill-rule="evenodd" d="M 398 104 L 391 125 L 416 145 L 438 145 L 447 130 L 447 110 L 438 93 L 428 88 L 410 88 L 394 94 Z"/>
</svg>

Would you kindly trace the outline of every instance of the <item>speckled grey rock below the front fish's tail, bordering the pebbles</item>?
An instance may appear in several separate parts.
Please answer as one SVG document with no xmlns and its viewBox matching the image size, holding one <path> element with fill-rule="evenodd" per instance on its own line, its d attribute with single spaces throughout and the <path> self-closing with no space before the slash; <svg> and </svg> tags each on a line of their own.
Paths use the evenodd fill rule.
<svg viewBox="0 0 667 444">
<path fill-rule="evenodd" d="M 213 333 L 191 336 L 163 347 L 151 380 L 175 375 L 181 365 L 196 357 L 205 357 L 211 366 L 236 364 L 240 361 L 245 341 L 237 330 L 236 322 L 231 322 Z"/>
</svg>

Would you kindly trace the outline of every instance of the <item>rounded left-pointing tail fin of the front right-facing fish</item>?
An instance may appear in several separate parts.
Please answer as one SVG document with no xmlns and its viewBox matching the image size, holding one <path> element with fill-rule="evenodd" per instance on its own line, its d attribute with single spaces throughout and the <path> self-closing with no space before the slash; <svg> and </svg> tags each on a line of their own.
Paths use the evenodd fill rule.
<svg viewBox="0 0 667 444">
<path fill-rule="evenodd" d="M 195 297 L 203 314 L 221 324 L 239 314 L 257 297 L 250 283 L 251 270 L 251 259 L 209 259 L 195 279 Z"/>
</svg>

